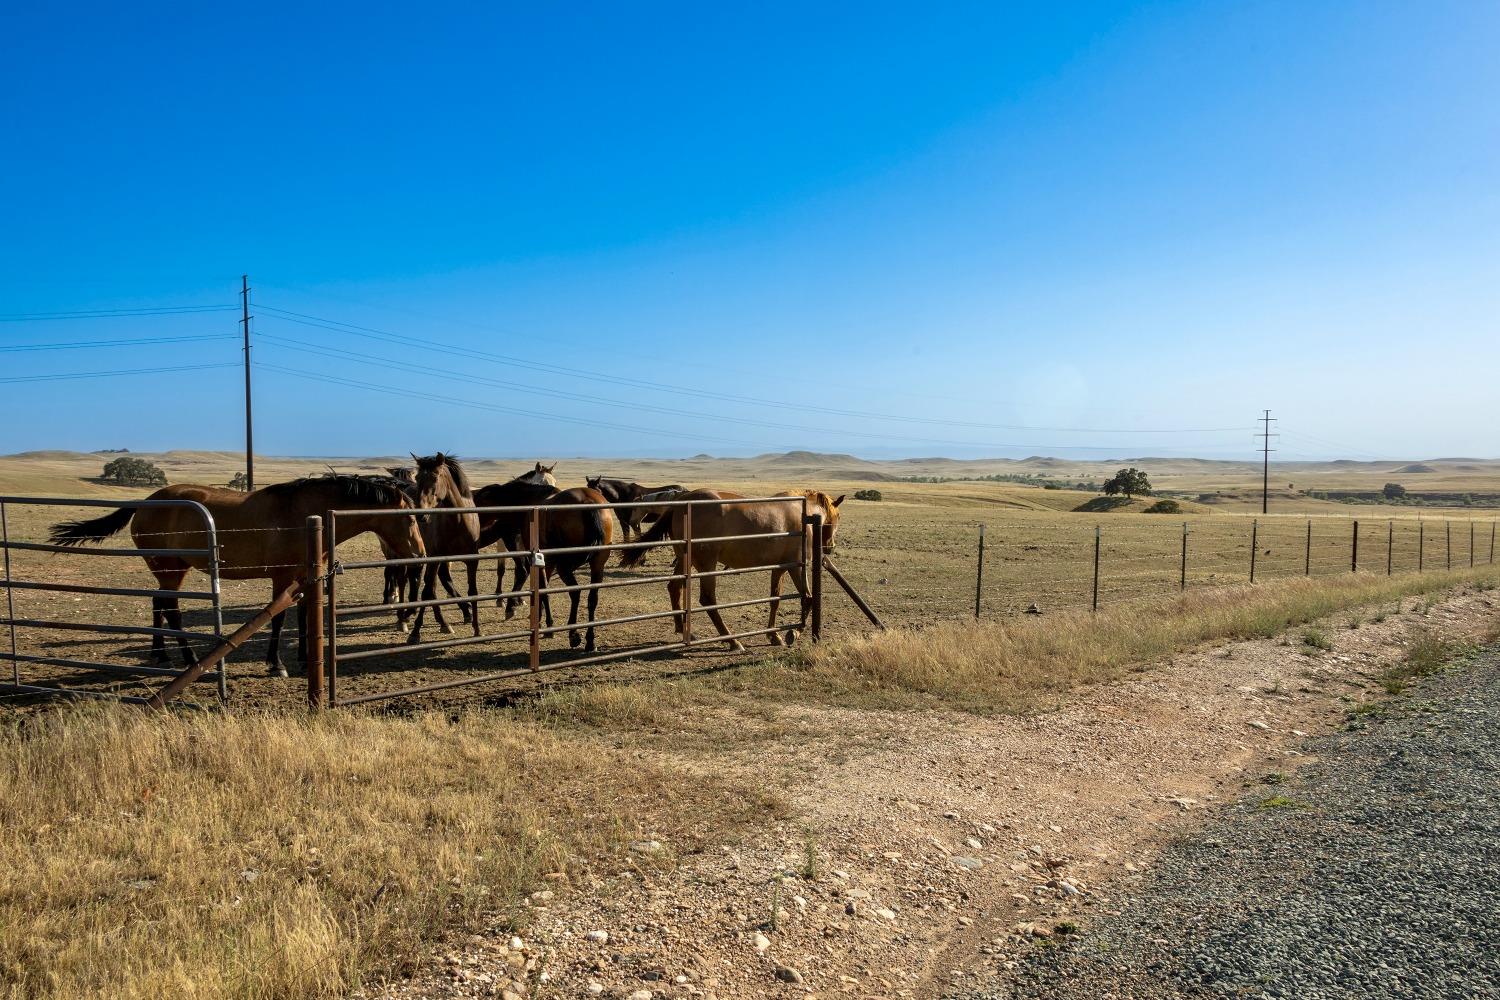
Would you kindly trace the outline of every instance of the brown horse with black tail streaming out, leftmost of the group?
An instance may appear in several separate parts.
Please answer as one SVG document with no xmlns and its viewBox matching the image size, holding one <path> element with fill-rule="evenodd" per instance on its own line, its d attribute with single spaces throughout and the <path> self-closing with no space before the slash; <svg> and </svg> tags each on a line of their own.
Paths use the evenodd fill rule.
<svg viewBox="0 0 1500 1000">
<path fill-rule="evenodd" d="M 306 562 L 306 540 L 303 529 L 310 514 L 328 510 L 380 511 L 411 510 L 406 496 L 387 483 L 362 475 L 320 475 L 290 483 L 276 483 L 254 493 L 220 489 L 216 486 L 194 486 L 180 483 L 166 486 L 147 499 L 196 501 L 213 514 L 219 543 L 219 577 L 225 580 L 270 579 L 272 595 L 291 586 L 303 573 Z M 102 543 L 130 526 L 130 537 L 138 549 L 204 549 L 207 540 L 202 520 L 188 507 L 122 507 L 114 513 L 92 520 L 69 520 L 52 525 L 52 544 L 80 546 Z M 399 558 L 414 558 L 423 553 L 422 532 L 416 517 L 381 517 L 348 513 L 339 517 L 339 541 L 348 541 L 366 531 L 375 532 L 381 546 Z M 204 556 L 141 556 L 156 576 L 162 591 L 180 591 L 188 573 L 207 571 Z M 286 612 L 272 619 L 270 646 L 266 652 L 267 670 L 286 676 L 280 658 L 280 630 Z M 302 606 L 297 612 L 302 625 L 298 663 L 306 663 L 306 622 Z M 152 598 L 152 625 L 182 630 L 182 612 L 176 597 Z M 194 663 L 192 646 L 177 636 L 177 651 L 184 666 Z M 166 642 L 162 636 L 152 637 L 152 658 L 170 663 Z"/>
</svg>

